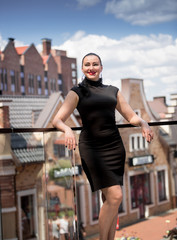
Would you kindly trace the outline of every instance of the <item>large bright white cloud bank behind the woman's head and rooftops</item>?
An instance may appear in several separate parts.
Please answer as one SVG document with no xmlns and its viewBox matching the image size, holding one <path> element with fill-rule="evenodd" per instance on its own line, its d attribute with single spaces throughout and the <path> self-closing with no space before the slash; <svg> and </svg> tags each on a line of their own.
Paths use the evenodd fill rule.
<svg viewBox="0 0 177 240">
<path fill-rule="evenodd" d="M 80 69 L 83 56 L 95 52 L 102 58 L 106 84 L 120 88 L 122 78 L 144 79 L 149 100 L 162 93 L 169 97 L 170 93 L 177 92 L 177 40 L 169 35 L 130 35 L 115 40 L 79 31 L 57 48 L 77 58 L 79 79 L 82 77 Z M 171 84 L 173 88 L 169 87 Z"/>
</svg>

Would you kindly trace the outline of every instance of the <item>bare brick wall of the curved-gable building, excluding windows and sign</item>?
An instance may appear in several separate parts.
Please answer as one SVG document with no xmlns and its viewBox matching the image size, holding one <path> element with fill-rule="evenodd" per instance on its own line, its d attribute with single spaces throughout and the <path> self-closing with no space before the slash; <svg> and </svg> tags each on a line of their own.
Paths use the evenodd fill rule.
<svg viewBox="0 0 177 240">
<path fill-rule="evenodd" d="M 144 89 L 143 89 L 143 81 L 138 79 L 125 79 L 122 82 L 123 86 L 123 95 L 125 96 L 126 100 L 129 102 L 130 106 L 133 110 L 140 110 L 141 117 L 146 120 L 147 122 L 151 120 L 155 120 L 154 116 L 151 113 L 151 110 L 148 108 L 146 103 Z M 127 123 L 126 120 L 123 120 L 124 123 Z M 170 209 L 170 202 L 162 202 L 158 204 L 158 189 L 156 189 L 156 168 L 158 166 L 166 166 L 168 169 L 168 154 L 167 149 L 164 148 L 164 145 L 159 137 L 159 127 L 152 127 L 154 132 L 154 140 L 152 143 L 148 144 L 148 149 L 144 150 L 134 150 L 130 152 L 129 149 L 129 136 L 131 134 L 141 133 L 141 128 L 126 128 L 120 129 L 120 134 L 122 136 L 124 146 L 126 149 L 126 163 L 125 163 L 125 187 L 126 187 L 126 210 L 127 214 L 125 216 L 120 217 L 120 223 L 122 225 L 135 222 L 138 220 L 137 213 L 130 213 L 129 209 L 129 202 L 131 201 L 129 198 L 129 189 L 130 186 L 128 185 L 128 173 L 129 171 L 134 171 L 134 174 L 138 174 L 138 171 L 142 171 L 144 166 L 137 166 L 137 167 L 130 167 L 128 164 L 128 158 L 134 156 L 145 156 L 145 155 L 153 155 L 155 157 L 155 161 L 153 164 L 147 164 L 146 169 L 148 171 L 153 172 L 153 182 L 154 186 L 151 186 L 154 192 L 154 206 L 149 208 L 149 215 L 159 214 L 160 212 L 166 211 Z M 144 170 L 144 173 L 145 170 Z M 168 181 L 168 186 L 170 189 L 170 181 Z"/>
</svg>

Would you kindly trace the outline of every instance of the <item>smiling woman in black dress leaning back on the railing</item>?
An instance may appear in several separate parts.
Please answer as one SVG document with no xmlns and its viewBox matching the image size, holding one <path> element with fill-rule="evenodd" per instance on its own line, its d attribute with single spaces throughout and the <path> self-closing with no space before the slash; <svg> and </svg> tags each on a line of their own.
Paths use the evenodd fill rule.
<svg viewBox="0 0 177 240">
<path fill-rule="evenodd" d="M 125 150 L 115 125 L 115 109 L 135 126 L 140 126 L 148 142 L 153 139 L 149 125 L 131 109 L 119 89 L 102 83 L 103 66 L 95 53 L 82 60 L 85 79 L 69 91 L 53 125 L 65 133 L 68 149 L 77 146 L 73 131 L 64 122 L 78 109 L 83 129 L 79 138 L 79 151 L 83 169 L 92 191 L 101 190 L 103 205 L 99 215 L 100 240 L 113 240 L 117 213 L 122 201 Z"/>
</svg>

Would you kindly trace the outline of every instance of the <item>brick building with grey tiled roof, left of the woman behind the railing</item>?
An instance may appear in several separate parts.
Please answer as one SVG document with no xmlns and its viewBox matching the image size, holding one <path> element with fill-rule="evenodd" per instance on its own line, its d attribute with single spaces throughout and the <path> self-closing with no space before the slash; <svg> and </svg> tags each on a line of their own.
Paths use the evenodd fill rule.
<svg viewBox="0 0 177 240">
<path fill-rule="evenodd" d="M 51 127 L 63 101 L 61 92 L 50 97 L 1 96 L 0 127 Z M 68 124 L 80 126 L 74 115 Z M 70 159 L 60 132 L 0 134 L 0 236 L 4 240 L 49 239 L 53 216 L 62 217 L 66 210 L 74 213 L 72 175 L 67 179 L 50 175 L 56 167 L 70 171 Z M 75 159 L 80 168 L 78 151 Z"/>
</svg>

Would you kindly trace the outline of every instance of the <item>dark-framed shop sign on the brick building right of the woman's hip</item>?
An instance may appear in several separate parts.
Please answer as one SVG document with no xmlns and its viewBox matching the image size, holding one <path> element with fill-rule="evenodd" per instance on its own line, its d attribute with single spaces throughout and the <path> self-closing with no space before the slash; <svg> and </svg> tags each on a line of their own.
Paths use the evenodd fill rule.
<svg viewBox="0 0 177 240">
<path fill-rule="evenodd" d="M 152 164 L 153 162 L 154 162 L 153 155 L 129 158 L 129 166 L 130 167 L 141 166 L 141 165 L 145 165 L 145 164 Z"/>
</svg>

